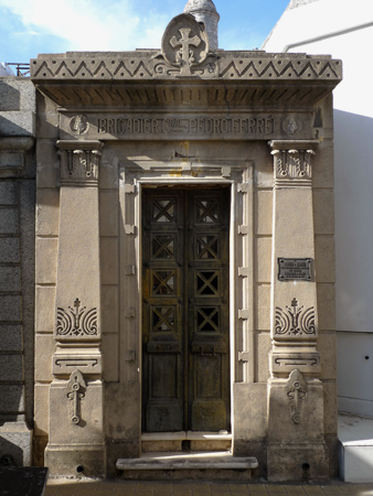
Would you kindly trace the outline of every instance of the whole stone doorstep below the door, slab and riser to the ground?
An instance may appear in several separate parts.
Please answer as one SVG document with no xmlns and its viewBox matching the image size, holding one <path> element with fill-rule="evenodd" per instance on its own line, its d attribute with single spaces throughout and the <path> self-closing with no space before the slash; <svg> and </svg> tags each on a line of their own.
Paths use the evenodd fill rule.
<svg viewBox="0 0 373 496">
<path fill-rule="evenodd" d="M 139 459 L 119 459 L 116 467 L 124 478 L 239 478 L 251 479 L 258 466 L 254 456 L 233 456 L 231 452 L 143 453 Z"/>
</svg>

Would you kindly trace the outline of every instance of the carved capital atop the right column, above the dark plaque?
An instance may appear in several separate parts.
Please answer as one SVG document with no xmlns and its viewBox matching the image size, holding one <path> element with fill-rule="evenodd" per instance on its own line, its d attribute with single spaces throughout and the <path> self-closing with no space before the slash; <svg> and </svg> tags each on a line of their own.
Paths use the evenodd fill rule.
<svg viewBox="0 0 373 496">
<path fill-rule="evenodd" d="M 316 154 L 318 141 L 274 140 L 268 144 L 274 155 L 275 187 L 311 186 L 311 157 Z"/>
</svg>

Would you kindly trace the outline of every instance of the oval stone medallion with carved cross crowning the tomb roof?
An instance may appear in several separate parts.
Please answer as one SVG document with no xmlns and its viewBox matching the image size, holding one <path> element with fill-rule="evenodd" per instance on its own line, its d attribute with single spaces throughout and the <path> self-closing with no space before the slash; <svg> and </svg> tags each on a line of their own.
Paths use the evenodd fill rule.
<svg viewBox="0 0 373 496">
<path fill-rule="evenodd" d="M 181 77 L 186 77 L 198 74 L 199 67 L 206 61 L 207 55 L 207 33 L 195 18 L 191 14 L 180 14 L 173 18 L 162 37 L 164 61 L 177 68 Z M 214 71 L 215 67 L 213 67 Z M 161 74 L 162 72 L 163 68 L 156 66 L 156 73 Z M 170 75 L 171 73 L 168 72 Z"/>
</svg>

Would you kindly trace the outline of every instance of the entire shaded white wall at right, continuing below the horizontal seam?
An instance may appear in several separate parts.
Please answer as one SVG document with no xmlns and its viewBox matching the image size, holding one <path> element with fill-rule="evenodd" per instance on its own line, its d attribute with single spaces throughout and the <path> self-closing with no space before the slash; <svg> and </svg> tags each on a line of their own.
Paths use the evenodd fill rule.
<svg viewBox="0 0 373 496">
<path fill-rule="evenodd" d="M 373 414 L 373 118 L 334 110 L 339 410 Z"/>
</svg>

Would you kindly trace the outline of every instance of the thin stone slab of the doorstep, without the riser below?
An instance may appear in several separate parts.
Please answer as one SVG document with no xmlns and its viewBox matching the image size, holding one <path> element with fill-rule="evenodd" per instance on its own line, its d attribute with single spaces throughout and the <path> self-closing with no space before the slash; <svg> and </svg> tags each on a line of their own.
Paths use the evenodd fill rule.
<svg viewBox="0 0 373 496">
<path fill-rule="evenodd" d="M 143 453 L 139 459 L 118 459 L 119 471 L 252 470 L 254 456 L 233 456 L 231 452 Z"/>
</svg>

